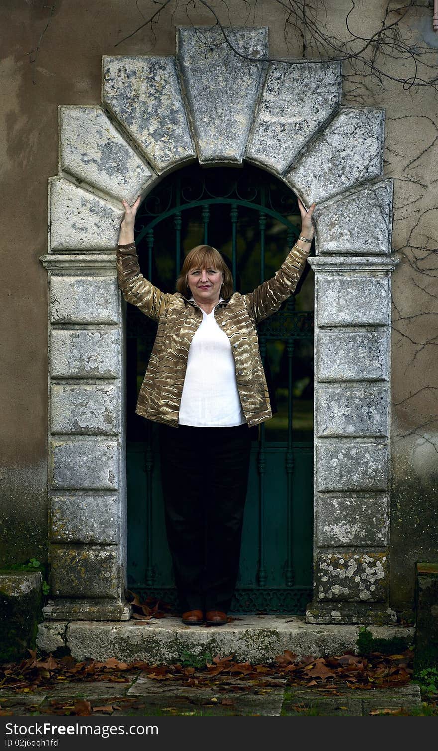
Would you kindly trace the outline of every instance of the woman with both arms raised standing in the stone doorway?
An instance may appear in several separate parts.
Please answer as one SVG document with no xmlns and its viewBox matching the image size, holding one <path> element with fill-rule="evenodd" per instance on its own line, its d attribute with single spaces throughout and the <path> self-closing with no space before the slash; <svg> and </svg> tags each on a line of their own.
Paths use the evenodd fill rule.
<svg viewBox="0 0 438 751">
<path fill-rule="evenodd" d="M 249 294 L 213 247 L 193 248 L 176 294 L 140 273 L 134 221 L 125 216 L 117 248 L 119 287 L 158 323 L 135 412 L 159 422 L 165 523 L 183 623 L 227 623 L 237 581 L 249 475 L 249 428 L 272 417 L 256 324 L 295 291 L 313 239 L 316 204 L 301 213 L 301 235 L 272 279 Z"/>
</svg>

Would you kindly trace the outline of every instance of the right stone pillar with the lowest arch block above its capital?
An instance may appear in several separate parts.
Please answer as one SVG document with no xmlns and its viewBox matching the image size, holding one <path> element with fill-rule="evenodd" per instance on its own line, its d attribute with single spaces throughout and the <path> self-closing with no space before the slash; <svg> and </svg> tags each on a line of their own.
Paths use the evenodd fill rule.
<svg viewBox="0 0 438 751">
<path fill-rule="evenodd" d="M 380 189 L 388 191 L 385 182 Z M 318 253 L 309 258 L 315 272 L 316 391 L 314 596 L 308 623 L 396 618 L 388 602 L 390 272 L 399 259 L 385 255 L 389 235 L 382 243 L 380 232 L 385 214 L 374 199 L 368 191 L 323 206 Z M 372 231 L 375 219 L 373 234 L 361 242 L 348 234 L 342 239 L 337 214 L 343 228 L 357 235 L 355 211 L 364 202 L 368 216 L 360 232 L 366 235 L 367 225 Z"/>
</svg>

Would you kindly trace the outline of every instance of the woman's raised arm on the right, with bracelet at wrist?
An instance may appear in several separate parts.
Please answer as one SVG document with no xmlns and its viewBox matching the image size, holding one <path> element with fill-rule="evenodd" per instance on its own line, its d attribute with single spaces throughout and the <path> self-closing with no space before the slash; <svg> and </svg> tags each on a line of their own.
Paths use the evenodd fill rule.
<svg viewBox="0 0 438 751">
<path fill-rule="evenodd" d="M 312 204 L 307 211 L 298 198 L 298 207 L 301 213 L 301 233 L 297 242 L 272 279 L 267 279 L 253 292 L 243 295 L 243 302 L 255 323 L 275 313 L 282 302 L 293 294 L 306 266 L 313 240 L 312 214 L 316 204 Z"/>
</svg>

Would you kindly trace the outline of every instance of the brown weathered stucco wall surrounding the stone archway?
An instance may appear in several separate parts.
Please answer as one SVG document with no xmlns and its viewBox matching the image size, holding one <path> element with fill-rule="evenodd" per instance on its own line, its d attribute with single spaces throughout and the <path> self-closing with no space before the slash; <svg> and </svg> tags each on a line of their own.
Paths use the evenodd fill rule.
<svg viewBox="0 0 438 751">
<path fill-rule="evenodd" d="M 258 0 L 254 14 L 240 0 L 213 2 L 222 23 L 269 26 L 271 56 L 301 57 L 301 41 L 288 35 L 274 0 Z M 381 2 L 358 6 L 350 17 L 356 33 L 379 27 Z M 156 5 L 138 4 L 148 18 Z M 346 38 L 347 0 L 325 3 L 328 32 Z M 58 171 L 57 107 L 99 104 L 101 56 L 173 54 L 175 27 L 213 23 L 197 4 L 186 14 L 186 0 L 172 2 L 155 26 L 119 44 L 144 19 L 134 2 L 122 0 L 42 0 L 17 4 L 4 0 L 2 76 L 2 488 L 1 562 L 44 559 L 47 538 L 47 272 L 38 257 L 47 250 L 47 177 Z M 414 15 L 416 13 L 416 16 Z M 438 35 L 430 32 L 431 11 L 418 8 L 409 24 L 419 44 L 438 57 Z M 434 45 L 434 46 L 433 46 Z M 318 59 L 316 50 L 307 56 Z M 388 59 L 385 70 L 406 74 Z M 403 90 L 393 80 L 364 79 L 344 63 L 343 104 L 385 107 L 385 174 L 394 178 L 393 249 L 400 263 L 392 276 L 392 513 L 391 604 L 412 602 L 415 560 L 436 560 L 436 247 L 438 178 L 434 140 L 438 135 L 436 98 L 430 89 Z M 421 71 L 430 74 L 430 69 Z M 305 97 L 306 92 L 303 92 Z M 5 531 L 4 531 L 5 530 Z"/>
</svg>

